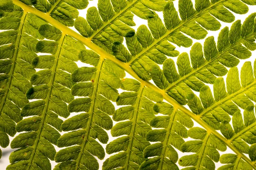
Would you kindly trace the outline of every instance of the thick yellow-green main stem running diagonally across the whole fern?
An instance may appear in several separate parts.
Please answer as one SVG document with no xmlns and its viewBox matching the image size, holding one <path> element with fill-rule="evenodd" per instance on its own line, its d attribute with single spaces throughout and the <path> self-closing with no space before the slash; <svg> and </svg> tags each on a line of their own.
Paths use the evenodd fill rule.
<svg viewBox="0 0 256 170">
<path fill-rule="evenodd" d="M 20 2 L 19 0 L 12 0 L 13 3 L 17 6 L 20 6 L 23 9 L 26 9 L 27 11 L 29 11 L 32 14 L 35 14 L 36 16 L 42 18 L 43 20 L 47 21 L 48 23 L 52 24 L 52 26 L 55 26 L 56 28 L 60 29 L 63 33 L 66 33 L 68 35 L 70 35 L 71 37 L 75 38 L 76 40 L 80 41 L 81 43 L 83 43 L 84 45 L 86 45 L 88 48 L 92 49 L 93 51 L 95 51 L 97 54 L 100 55 L 101 58 L 105 58 L 110 60 L 111 62 L 115 63 L 116 65 L 118 65 L 120 68 L 124 69 L 128 74 L 130 74 L 132 77 L 134 77 L 135 79 L 137 79 L 139 82 L 143 83 L 145 86 L 147 86 L 148 88 L 151 88 L 152 90 L 160 93 L 163 95 L 163 98 L 171 103 L 175 108 L 177 108 L 180 111 L 183 111 L 183 113 L 185 113 L 186 115 L 188 115 L 189 117 L 191 117 L 193 120 L 195 120 L 195 122 L 197 122 L 199 125 L 201 125 L 202 127 L 204 127 L 209 133 L 212 133 L 213 135 L 215 135 L 218 139 L 220 139 L 222 142 L 224 142 L 228 147 L 230 147 L 231 150 L 233 150 L 237 155 L 239 155 L 242 159 L 244 159 L 244 161 L 246 161 L 248 164 L 250 164 L 251 167 L 253 167 L 253 169 L 256 170 L 256 165 L 250 161 L 250 159 L 245 156 L 243 153 L 241 153 L 238 149 L 236 149 L 236 147 L 233 146 L 233 144 L 231 144 L 226 138 L 224 138 L 220 133 L 218 133 L 216 130 L 214 130 L 212 127 L 210 127 L 209 125 L 207 125 L 202 119 L 200 119 L 199 116 L 195 115 L 194 113 L 192 113 L 191 111 L 189 111 L 187 108 L 185 108 L 184 106 L 180 105 L 176 100 L 172 99 L 170 96 L 168 96 L 165 91 L 157 88 L 155 85 L 153 85 L 151 82 L 147 82 L 144 81 L 143 79 L 141 79 L 132 69 L 131 67 L 126 64 L 121 62 L 120 60 L 116 59 L 113 55 L 109 54 L 108 52 L 106 52 L 105 50 L 103 50 L 102 48 L 100 48 L 99 46 L 97 46 L 96 44 L 94 44 L 93 42 L 91 42 L 88 38 L 85 38 L 83 36 L 81 36 L 80 34 L 78 34 L 76 31 L 73 31 L 72 29 L 68 28 L 67 26 L 65 26 L 64 24 L 58 22 L 57 20 L 53 19 L 52 17 L 50 17 L 49 15 L 35 9 L 32 6 L 28 6 L 22 2 Z M 223 1 L 219 1 L 219 2 L 223 2 Z"/>
</svg>

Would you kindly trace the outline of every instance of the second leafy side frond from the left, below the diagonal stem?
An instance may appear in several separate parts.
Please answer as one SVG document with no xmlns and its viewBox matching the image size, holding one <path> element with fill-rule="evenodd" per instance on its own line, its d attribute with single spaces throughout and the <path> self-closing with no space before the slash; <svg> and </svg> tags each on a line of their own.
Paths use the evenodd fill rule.
<svg viewBox="0 0 256 170">
<path fill-rule="evenodd" d="M 20 148 L 11 153 L 10 165 L 7 170 L 22 166 L 26 170 L 51 170 L 50 160 L 54 160 L 57 140 L 61 136 L 62 120 L 58 116 L 67 118 L 70 112 L 67 103 L 74 97 L 70 88 L 74 84 L 70 73 L 77 69 L 79 52 L 84 45 L 72 37 L 62 33 L 49 24 L 41 25 L 38 29 L 41 36 L 51 40 L 41 40 L 36 49 L 41 55 L 32 60 L 34 68 L 41 69 L 32 75 L 30 82 L 33 87 L 26 93 L 27 99 L 38 99 L 25 105 L 20 115 L 23 119 L 16 125 L 20 133 L 11 142 L 12 148 Z"/>
</svg>

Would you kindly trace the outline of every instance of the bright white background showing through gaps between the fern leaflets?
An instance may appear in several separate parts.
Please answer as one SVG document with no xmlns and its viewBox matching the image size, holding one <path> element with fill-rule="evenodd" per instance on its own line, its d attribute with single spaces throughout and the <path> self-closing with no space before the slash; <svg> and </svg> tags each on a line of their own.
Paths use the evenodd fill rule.
<svg viewBox="0 0 256 170">
<path fill-rule="evenodd" d="M 192 0 L 192 1 L 193 1 L 193 3 L 195 4 L 194 0 Z M 91 6 L 97 6 L 97 3 L 98 3 L 98 0 L 89 1 L 89 6 L 87 7 L 87 9 L 88 9 L 89 7 L 91 7 Z M 178 0 L 174 1 L 174 4 L 175 4 L 175 8 L 178 9 L 178 8 L 177 8 L 177 7 L 178 7 Z M 79 16 L 86 18 L 87 9 L 79 10 Z M 255 11 L 256 11 L 256 6 L 249 6 L 249 11 L 247 12 L 247 14 L 239 15 L 239 14 L 234 14 L 233 12 L 232 12 L 232 13 L 235 15 L 236 20 L 241 20 L 241 22 L 243 23 L 244 20 L 245 20 L 245 18 L 246 18 L 248 15 L 250 15 L 251 13 L 255 12 Z M 163 20 L 163 13 L 162 13 L 162 12 L 157 12 L 157 14 L 158 14 L 159 17 Z M 143 19 L 137 17 L 136 15 L 134 15 L 134 22 L 137 24 L 137 26 L 132 27 L 132 28 L 135 29 L 135 31 L 137 31 L 137 28 L 138 28 L 140 25 L 143 25 L 143 24 L 144 24 L 144 25 L 147 25 L 147 21 L 146 21 L 146 20 L 143 20 Z M 219 22 L 221 23 L 221 29 L 224 28 L 225 26 L 228 26 L 228 27 L 230 28 L 230 26 L 232 25 L 232 23 L 224 23 L 224 22 L 221 22 L 221 21 L 219 21 Z M 75 30 L 75 28 L 72 28 L 72 29 Z M 217 37 L 218 37 L 218 34 L 219 34 L 219 32 L 220 32 L 221 29 L 219 29 L 218 31 L 208 31 L 207 37 L 209 37 L 209 36 L 214 36 L 214 37 L 215 37 L 215 42 L 217 42 Z M 207 38 L 207 37 L 206 37 L 206 38 Z M 195 42 L 200 42 L 202 45 L 204 44 L 204 40 L 194 40 L 194 39 L 192 39 L 192 40 L 193 40 L 193 43 L 195 43 Z M 125 44 L 125 41 L 124 41 L 124 44 Z M 173 45 L 174 45 L 174 44 L 173 44 Z M 180 53 L 182 53 L 182 52 L 187 52 L 187 53 L 189 54 L 189 51 L 190 51 L 190 49 L 191 49 L 191 47 L 190 47 L 190 48 L 183 48 L 183 47 L 178 47 L 177 45 L 175 45 L 175 46 L 177 47 L 176 50 L 177 50 L 177 51 L 180 51 Z M 176 60 L 177 57 L 176 57 L 176 58 L 172 57 L 172 59 Z M 237 67 L 238 67 L 239 70 L 240 70 L 241 67 L 242 67 L 242 65 L 244 64 L 244 62 L 250 61 L 250 62 L 253 63 L 255 59 L 256 59 L 256 51 L 252 51 L 252 56 L 251 56 L 249 59 L 240 60 L 240 63 L 239 63 L 239 65 L 238 65 Z M 89 66 L 89 65 L 84 64 L 84 63 L 81 63 L 81 62 L 77 62 L 77 65 L 78 65 L 79 67 L 82 67 L 82 66 Z M 160 67 L 161 67 L 161 66 L 160 66 Z M 133 78 L 133 77 L 131 77 L 131 76 L 130 76 L 129 74 L 127 74 L 127 73 L 126 73 L 126 77 L 128 77 L 128 78 Z M 224 79 L 225 79 L 225 78 L 226 78 L 226 76 L 224 77 Z M 151 82 L 152 82 L 152 81 L 151 81 Z M 208 84 L 208 85 L 209 85 L 209 84 Z M 209 87 L 212 89 L 212 85 L 209 85 Z M 119 92 L 122 92 L 122 90 L 119 89 Z M 195 92 L 195 94 L 198 95 L 199 93 L 198 93 L 198 92 Z M 113 103 L 113 104 L 115 105 L 115 103 Z M 119 108 L 119 107 L 116 106 L 116 105 L 115 105 L 115 107 L 116 107 L 116 108 Z M 187 106 L 185 106 L 185 107 L 188 108 Z M 75 113 L 71 113 L 70 117 L 71 117 L 71 116 L 74 116 L 74 115 L 75 115 Z M 63 119 L 63 120 L 64 120 L 64 119 Z M 113 122 L 113 124 L 115 125 L 116 122 Z M 194 122 L 194 126 L 201 127 L 201 126 L 198 125 L 196 122 Z M 220 132 L 219 132 L 219 133 L 220 133 Z M 63 132 L 62 132 L 61 134 L 63 134 Z M 18 135 L 18 133 L 17 133 L 15 136 L 17 136 L 17 135 Z M 110 130 L 108 130 L 108 136 L 109 136 L 109 142 L 111 142 L 111 141 L 113 141 L 114 139 L 118 138 L 118 137 L 111 137 Z M 10 137 L 10 141 L 12 141 L 12 139 L 13 139 L 13 138 Z M 191 139 L 188 138 L 188 139 L 184 139 L 184 140 L 187 141 L 187 140 L 191 140 Z M 109 143 L 109 142 L 108 142 L 108 143 Z M 102 144 L 102 145 L 103 145 L 104 148 L 106 147 L 106 144 Z M 58 147 L 56 147 L 56 146 L 55 146 L 55 149 L 56 149 L 56 151 L 60 150 L 60 148 L 58 148 Z M 14 151 L 14 149 L 11 149 L 11 147 L 8 146 L 8 147 L 6 147 L 6 148 L 1 148 L 1 150 L 2 150 L 3 156 L 2 156 L 2 158 L 0 159 L 0 170 L 5 170 L 6 167 L 9 165 L 9 155 L 10 155 L 11 152 Z M 179 150 L 177 150 L 177 152 L 178 152 L 178 154 L 179 154 L 179 158 L 180 158 L 181 156 L 190 155 L 190 154 L 191 154 L 191 153 L 182 153 L 182 152 L 180 152 Z M 226 150 L 225 152 L 220 152 L 220 153 L 221 153 L 221 154 L 223 154 L 223 153 L 233 153 L 233 151 L 230 150 L 229 148 L 227 148 L 227 150 Z M 115 154 L 115 153 L 113 153 L 113 154 Z M 112 154 L 112 155 L 113 155 L 113 154 Z M 109 158 L 109 156 L 111 156 L 111 155 L 108 155 L 108 154 L 106 153 L 105 159 L 103 159 L 103 160 L 99 160 L 99 159 L 98 159 L 100 170 L 101 170 L 101 167 L 102 167 L 103 162 L 104 162 L 107 158 Z M 56 165 L 56 163 L 55 163 L 54 161 L 51 161 L 51 164 L 52 164 L 52 169 L 53 169 L 53 167 Z M 178 165 L 178 163 L 177 163 L 177 165 Z M 221 163 L 219 163 L 219 162 L 218 162 L 218 163 L 215 163 L 216 169 L 217 169 L 218 167 L 220 167 L 221 165 L 223 165 L 223 164 L 221 164 Z M 179 166 L 179 165 L 178 165 L 178 166 Z M 180 166 L 179 166 L 179 168 L 182 169 L 182 167 L 180 167 Z"/>
</svg>

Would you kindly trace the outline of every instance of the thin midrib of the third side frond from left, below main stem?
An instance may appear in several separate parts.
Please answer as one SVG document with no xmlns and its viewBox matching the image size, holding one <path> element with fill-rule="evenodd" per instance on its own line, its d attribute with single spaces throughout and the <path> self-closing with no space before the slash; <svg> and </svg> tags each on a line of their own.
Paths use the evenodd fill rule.
<svg viewBox="0 0 256 170">
<path fill-rule="evenodd" d="M 95 101 L 96 101 L 98 85 L 99 85 L 100 70 L 102 69 L 103 62 L 104 62 L 104 58 L 101 58 L 100 61 L 99 61 L 99 65 L 97 65 L 97 73 L 96 73 L 96 78 L 95 78 L 95 81 L 94 81 L 95 85 L 94 85 L 94 88 L 93 88 L 93 94 L 90 97 L 90 98 L 93 99 L 93 101 L 92 101 L 92 104 L 90 106 L 90 110 L 87 112 L 87 113 L 90 114 L 90 120 L 87 123 L 87 126 L 85 127 L 87 132 L 86 132 L 86 135 L 84 136 L 83 142 L 81 144 L 81 151 L 79 153 L 79 156 L 76 158 L 77 164 L 76 164 L 75 170 L 79 169 L 79 164 L 81 162 L 81 157 L 82 157 L 82 154 L 84 152 L 84 147 L 86 145 L 87 139 L 90 136 L 90 129 L 91 129 L 91 125 L 92 125 L 92 122 L 93 122 L 93 113 L 94 113 L 94 107 L 95 107 L 95 103 L 96 103 Z"/>
</svg>

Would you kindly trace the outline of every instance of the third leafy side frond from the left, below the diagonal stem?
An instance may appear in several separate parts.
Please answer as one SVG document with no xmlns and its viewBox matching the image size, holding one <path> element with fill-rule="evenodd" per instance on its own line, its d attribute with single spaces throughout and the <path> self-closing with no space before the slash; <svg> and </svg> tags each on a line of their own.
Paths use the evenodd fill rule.
<svg viewBox="0 0 256 170">
<path fill-rule="evenodd" d="M 110 100 L 116 101 L 118 98 L 116 89 L 121 87 L 120 79 L 125 77 L 124 70 L 91 50 L 81 51 L 79 59 L 93 67 L 78 68 L 71 75 L 73 82 L 77 82 L 71 88 L 71 94 L 83 98 L 70 102 L 68 110 L 83 113 L 65 120 L 61 125 L 61 130 L 71 132 L 58 139 L 57 146 L 67 148 L 56 154 L 55 161 L 61 162 L 55 167 L 56 170 L 68 167 L 73 170 L 99 169 L 94 156 L 101 160 L 105 157 L 104 148 L 99 142 L 108 142 L 105 130 L 112 128 L 113 122 L 109 115 L 115 112 Z"/>
</svg>

